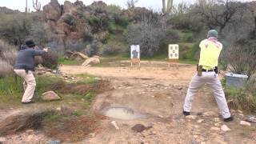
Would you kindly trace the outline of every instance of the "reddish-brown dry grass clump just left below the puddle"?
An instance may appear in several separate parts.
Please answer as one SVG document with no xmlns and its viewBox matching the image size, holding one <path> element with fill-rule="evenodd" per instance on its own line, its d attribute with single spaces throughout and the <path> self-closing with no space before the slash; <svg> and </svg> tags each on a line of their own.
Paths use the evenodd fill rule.
<svg viewBox="0 0 256 144">
<path fill-rule="evenodd" d="M 99 118 L 96 116 L 81 116 L 58 120 L 46 120 L 43 124 L 44 132 L 62 142 L 79 142 L 86 138 L 90 133 L 97 132 L 99 129 Z"/>
</svg>

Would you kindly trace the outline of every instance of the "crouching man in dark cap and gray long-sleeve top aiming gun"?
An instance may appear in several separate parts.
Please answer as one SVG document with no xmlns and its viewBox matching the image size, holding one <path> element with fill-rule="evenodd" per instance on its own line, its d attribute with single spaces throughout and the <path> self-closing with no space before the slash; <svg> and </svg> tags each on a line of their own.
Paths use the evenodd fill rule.
<svg viewBox="0 0 256 144">
<path fill-rule="evenodd" d="M 48 51 L 47 48 L 43 50 L 34 50 L 35 44 L 34 41 L 28 40 L 25 42 L 25 45 L 20 46 L 18 50 L 18 57 L 15 62 L 14 72 L 18 76 L 24 78 L 24 94 L 22 98 L 22 103 L 32 103 L 34 90 L 36 86 L 34 74 L 34 56 L 42 55 Z"/>
</svg>

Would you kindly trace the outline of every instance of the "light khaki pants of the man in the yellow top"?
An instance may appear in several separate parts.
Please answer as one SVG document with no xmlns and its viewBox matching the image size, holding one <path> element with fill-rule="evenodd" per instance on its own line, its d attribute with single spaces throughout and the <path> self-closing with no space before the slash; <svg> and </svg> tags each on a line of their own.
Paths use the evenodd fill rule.
<svg viewBox="0 0 256 144">
<path fill-rule="evenodd" d="M 198 74 L 194 75 L 190 82 L 190 87 L 187 90 L 183 109 L 186 112 L 190 112 L 194 95 L 204 84 L 206 84 L 210 88 L 210 90 L 214 92 L 214 98 L 217 101 L 218 109 L 220 110 L 222 117 L 229 118 L 230 110 L 226 103 L 222 84 L 218 79 L 218 74 L 215 74 L 215 72 L 202 72 L 202 76 L 198 76 Z"/>
</svg>

